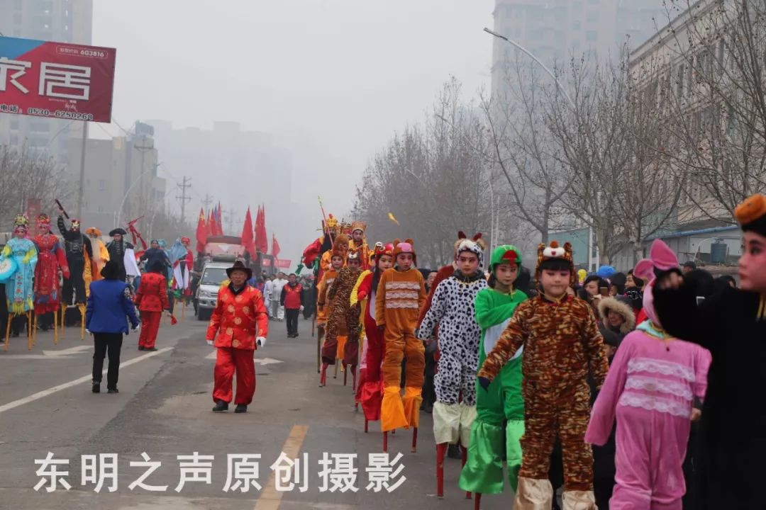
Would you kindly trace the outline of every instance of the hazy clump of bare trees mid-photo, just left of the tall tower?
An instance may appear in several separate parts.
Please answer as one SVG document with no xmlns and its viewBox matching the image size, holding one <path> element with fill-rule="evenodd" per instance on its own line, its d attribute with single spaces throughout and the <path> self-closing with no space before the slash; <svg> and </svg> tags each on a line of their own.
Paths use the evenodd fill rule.
<svg viewBox="0 0 766 510">
<path fill-rule="evenodd" d="M 421 265 L 449 260 L 458 229 L 489 226 L 489 173 L 476 151 L 483 138 L 475 109 L 460 100 L 460 83 L 449 80 L 426 121 L 404 128 L 372 158 L 357 187 L 355 218 L 377 239 L 413 237 Z"/>
</svg>

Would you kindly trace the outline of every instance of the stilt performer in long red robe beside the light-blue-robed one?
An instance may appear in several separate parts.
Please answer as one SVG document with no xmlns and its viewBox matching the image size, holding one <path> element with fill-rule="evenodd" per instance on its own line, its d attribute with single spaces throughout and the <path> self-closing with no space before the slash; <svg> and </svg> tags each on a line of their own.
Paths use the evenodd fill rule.
<svg viewBox="0 0 766 510">
<path fill-rule="evenodd" d="M 48 313 L 57 313 L 61 295 L 58 292 L 58 271 L 68 279 L 69 266 L 61 242 L 51 234 L 51 218 L 47 214 L 38 216 L 38 235 L 32 239 L 38 248 L 38 264 L 34 266 L 34 314 L 39 317 L 40 327 L 51 326 Z"/>
</svg>

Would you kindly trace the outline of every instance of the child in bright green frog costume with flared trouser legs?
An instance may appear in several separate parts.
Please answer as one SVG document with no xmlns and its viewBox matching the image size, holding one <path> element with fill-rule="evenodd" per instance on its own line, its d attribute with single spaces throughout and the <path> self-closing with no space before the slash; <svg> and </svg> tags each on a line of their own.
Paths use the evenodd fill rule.
<svg viewBox="0 0 766 510">
<path fill-rule="evenodd" d="M 490 288 L 476 294 L 476 322 L 481 327 L 479 366 L 486 359 L 516 307 L 527 298 L 513 289 L 522 256 L 512 245 L 498 246 L 492 252 Z M 508 477 L 516 491 L 524 434 L 522 398 L 522 349 L 506 364 L 488 391 L 478 391 L 476 382 L 476 421 L 471 427 L 468 461 L 460 473 L 460 489 L 481 494 L 499 494 L 503 490 L 502 453 L 505 450 Z"/>
</svg>

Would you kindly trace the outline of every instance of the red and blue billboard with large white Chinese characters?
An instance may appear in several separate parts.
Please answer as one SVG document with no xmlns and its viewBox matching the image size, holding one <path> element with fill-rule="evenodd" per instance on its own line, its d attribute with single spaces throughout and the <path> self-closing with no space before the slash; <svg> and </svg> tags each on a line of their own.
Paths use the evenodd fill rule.
<svg viewBox="0 0 766 510">
<path fill-rule="evenodd" d="M 0 37 L 0 113 L 111 122 L 114 48 Z"/>
</svg>

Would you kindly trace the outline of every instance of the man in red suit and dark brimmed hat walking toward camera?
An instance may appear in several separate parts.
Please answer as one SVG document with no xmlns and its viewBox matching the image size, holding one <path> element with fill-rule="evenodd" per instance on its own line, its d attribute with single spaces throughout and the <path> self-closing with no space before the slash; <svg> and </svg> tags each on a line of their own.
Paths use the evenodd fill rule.
<svg viewBox="0 0 766 510">
<path fill-rule="evenodd" d="M 228 411 L 231 402 L 231 381 L 237 372 L 235 413 L 247 412 L 255 393 L 255 363 L 253 351 L 266 345 L 269 317 L 260 292 L 247 284 L 253 271 L 241 261 L 226 270 L 230 283 L 218 291 L 210 325 L 208 345 L 218 348 L 215 360 L 213 412 Z M 218 333 L 218 337 L 216 337 Z M 215 342 L 214 342 L 215 340 Z"/>
</svg>

